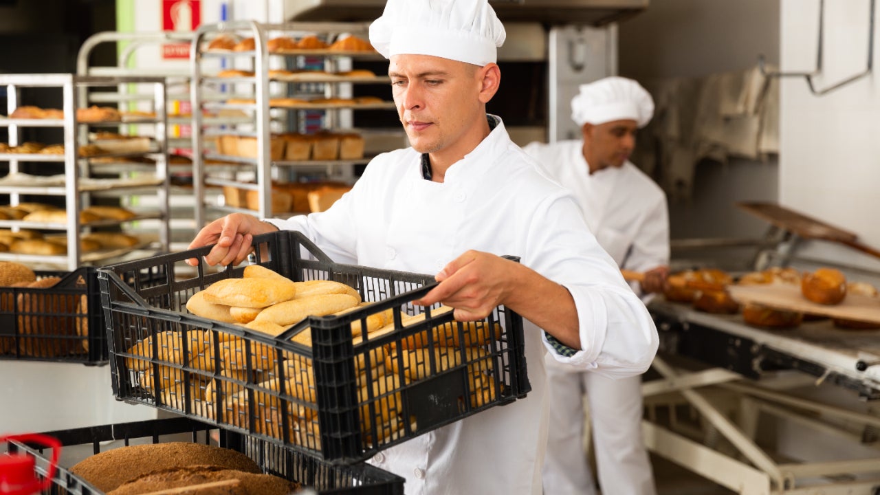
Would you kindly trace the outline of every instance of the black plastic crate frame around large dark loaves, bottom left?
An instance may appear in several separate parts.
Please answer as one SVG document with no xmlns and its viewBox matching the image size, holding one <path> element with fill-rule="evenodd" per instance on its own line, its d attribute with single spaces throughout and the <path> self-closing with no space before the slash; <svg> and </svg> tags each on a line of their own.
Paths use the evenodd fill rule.
<svg viewBox="0 0 880 495">
<path fill-rule="evenodd" d="M 211 439 L 216 432 L 216 441 Z M 163 441 L 189 441 L 231 448 L 246 454 L 263 472 L 312 487 L 319 494 L 337 495 L 402 495 L 404 480 L 369 464 L 334 466 L 238 432 L 216 429 L 215 426 L 186 417 L 153 419 L 136 423 L 101 425 L 74 430 L 43 433 L 62 444 L 62 461 L 46 493 L 70 495 L 102 495 L 104 492 L 70 473 L 67 469 L 92 454 L 99 454 L 122 445 L 156 444 Z M 107 442 L 113 442 L 108 444 Z M 4 447 L 0 444 L 0 447 Z M 37 477 L 45 479 L 51 454 L 45 449 L 28 446 L 16 440 L 6 442 L 13 454 L 31 455 L 36 461 Z M 79 450 L 70 455 L 73 447 Z"/>
</svg>

